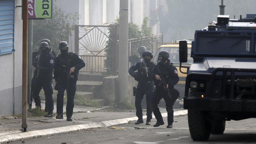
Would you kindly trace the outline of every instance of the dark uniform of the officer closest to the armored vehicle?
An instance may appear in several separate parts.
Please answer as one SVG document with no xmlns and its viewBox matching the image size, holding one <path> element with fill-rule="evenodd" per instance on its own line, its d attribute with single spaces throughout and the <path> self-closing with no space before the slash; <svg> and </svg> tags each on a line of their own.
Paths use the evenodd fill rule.
<svg viewBox="0 0 256 144">
<path fill-rule="evenodd" d="M 157 66 L 159 66 L 160 72 L 162 77 L 164 78 L 166 84 L 168 84 L 168 89 L 170 96 L 172 97 L 172 93 L 174 92 L 174 85 L 178 83 L 178 71 L 175 66 L 170 63 L 170 60 L 164 65 L 157 64 L 154 67 L 154 74 L 158 74 L 160 76 L 160 72 L 157 70 Z M 170 98 L 168 94 L 166 94 L 166 90 L 164 90 L 163 84 L 155 79 L 156 90 L 154 92 L 154 98 L 152 100 L 152 110 L 156 117 L 157 122 L 163 122 L 163 118 L 161 112 L 158 108 L 158 104 L 162 98 L 166 103 L 166 111 L 168 113 L 168 124 L 173 123 L 173 109 L 172 106 L 174 105 L 175 98 Z M 174 100 L 175 99 L 175 100 Z"/>
</svg>

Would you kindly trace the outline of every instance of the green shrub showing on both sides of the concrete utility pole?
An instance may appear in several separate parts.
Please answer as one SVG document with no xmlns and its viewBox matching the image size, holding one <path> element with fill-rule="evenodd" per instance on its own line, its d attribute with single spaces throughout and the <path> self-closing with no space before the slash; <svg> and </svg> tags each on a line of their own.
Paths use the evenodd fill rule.
<svg viewBox="0 0 256 144">
<path fill-rule="evenodd" d="M 109 37 L 114 40 L 114 26 L 118 26 L 119 28 L 119 18 L 117 18 L 112 24 L 110 24 L 109 28 Z M 130 39 L 138 39 L 136 42 L 131 42 L 131 51 L 132 54 L 139 56 L 138 54 L 138 47 L 139 46 L 146 46 L 147 50 L 153 50 L 153 37 L 151 28 L 148 26 L 148 18 L 145 17 L 143 20 L 142 25 L 139 27 L 137 24 L 129 23 L 128 24 L 128 38 Z M 119 34 L 119 33 L 118 33 Z M 118 35 L 119 39 L 119 35 Z M 112 68 L 112 52 L 113 52 L 113 41 L 109 40 L 106 45 L 106 56 L 107 59 L 105 60 L 106 66 L 106 74 L 110 74 Z M 131 55 L 132 55 L 131 54 Z"/>
</svg>

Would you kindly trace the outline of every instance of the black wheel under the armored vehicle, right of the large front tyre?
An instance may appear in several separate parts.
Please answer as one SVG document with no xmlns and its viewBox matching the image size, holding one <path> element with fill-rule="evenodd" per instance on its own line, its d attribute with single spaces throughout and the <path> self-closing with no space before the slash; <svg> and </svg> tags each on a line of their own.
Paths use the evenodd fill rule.
<svg viewBox="0 0 256 144">
<path fill-rule="evenodd" d="M 212 120 L 211 134 L 223 134 L 226 126 L 226 120 L 214 119 Z"/>
</svg>

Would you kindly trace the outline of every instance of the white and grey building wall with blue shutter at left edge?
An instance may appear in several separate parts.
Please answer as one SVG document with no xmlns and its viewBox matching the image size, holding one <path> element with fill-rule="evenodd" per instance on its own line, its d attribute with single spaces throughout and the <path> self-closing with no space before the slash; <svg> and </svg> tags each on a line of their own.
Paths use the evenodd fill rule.
<svg viewBox="0 0 256 144">
<path fill-rule="evenodd" d="M 0 116 L 22 111 L 21 0 L 0 0 Z"/>
</svg>

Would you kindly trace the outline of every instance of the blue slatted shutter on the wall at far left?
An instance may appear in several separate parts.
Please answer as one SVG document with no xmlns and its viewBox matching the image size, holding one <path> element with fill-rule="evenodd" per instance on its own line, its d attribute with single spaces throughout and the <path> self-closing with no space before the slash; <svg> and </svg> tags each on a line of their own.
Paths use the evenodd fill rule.
<svg viewBox="0 0 256 144">
<path fill-rule="evenodd" d="M 0 0 L 0 55 L 14 52 L 14 0 Z"/>
</svg>

